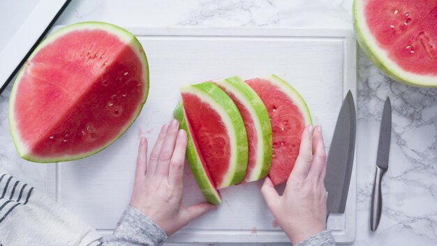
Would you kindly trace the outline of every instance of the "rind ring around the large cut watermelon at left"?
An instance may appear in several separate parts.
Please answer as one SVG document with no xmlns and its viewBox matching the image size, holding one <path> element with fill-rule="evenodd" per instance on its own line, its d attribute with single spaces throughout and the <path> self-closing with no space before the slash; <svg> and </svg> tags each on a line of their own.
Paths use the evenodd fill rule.
<svg viewBox="0 0 437 246">
<path fill-rule="evenodd" d="M 138 110 L 135 112 L 134 116 L 132 117 L 131 122 L 128 122 L 128 124 L 126 124 L 126 127 L 124 129 L 121 129 L 119 135 L 115 136 L 113 140 L 109 141 L 107 144 L 103 145 L 101 148 L 98 148 L 96 150 L 92 150 L 90 152 L 85 152 L 83 154 L 67 155 L 64 157 L 50 158 L 50 157 L 33 156 L 33 155 L 31 155 L 31 153 L 29 153 L 29 151 L 27 151 L 27 147 L 24 147 L 20 144 L 21 142 L 18 140 L 19 139 L 18 131 L 15 128 L 15 124 L 14 124 L 15 120 L 13 119 L 13 117 L 14 117 L 13 116 L 13 112 L 14 112 L 13 106 L 14 106 L 14 101 L 15 101 L 17 82 L 20 81 L 20 78 L 22 77 L 22 73 L 24 72 L 24 68 L 26 68 L 26 66 L 27 66 L 27 63 L 25 63 L 22 66 L 22 68 L 20 69 L 20 73 L 18 73 L 17 78 L 15 79 L 13 88 L 12 88 L 11 93 L 10 93 L 9 108 L 8 108 L 8 110 L 9 110 L 8 122 L 9 122 L 10 133 L 11 133 L 11 136 L 13 138 L 13 143 L 15 145 L 15 148 L 17 149 L 17 152 L 20 155 L 20 157 L 22 157 L 22 159 L 25 159 L 27 161 L 38 162 L 38 163 L 54 163 L 54 162 L 73 161 L 73 160 L 77 160 L 77 159 L 83 159 L 85 157 L 89 157 L 93 154 L 101 152 L 106 147 L 108 147 L 112 143 L 114 143 L 115 140 L 120 138 L 129 129 L 129 127 L 137 119 L 138 115 L 140 115 L 141 110 L 147 101 L 147 97 L 149 95 L 149 64 L 147 62 L 147 56 L 142 48 L 140 41 L 138 41 L 138 38 L 136 38 L 133 34 L 131 34 L 126 29 L 123 29 L 121 27 L 117 27 L 114 24 L 109 24 L 106 22 L 79 22 L 76 24 L 71 24 L 71 25 L 68 25 L 66 27 L 63 27 L 63 28 L 57 30 L 56 32 L 54 32 L 53 34 L 51 34 L 50 36 L 48 36 L 43 42 L 41 42 L 40 45 L 38 45 L 38 47 L 34 50 L 34 52 L 32 52 L 32 54 L 27 59 L 27 61 L 29 61 L 32 57 L 34 57 L 34 55 L 41 48 L 43 48 L 45 45 L 49 44 L 50 42 L 55 41 L 58 37 L 63 36 L 64 34 L 68 34 L 70 31 L 77 31 L 80 29 L 103 29 L 103 30 L 106 30 L 106 31 L 110 32 L 111 34 L 116 35 L 117 37 L 120 38 L 121 41 L 123 41 L 124 43 L 126 43 L 127 45 L 129 45 L 135 49 L 135 53 L 138 55 L 138 59 L 141 61 L 142 67 L 144 68 L 143 78 L 145 81 L 145 86 L 144 86 L 143 100 L 139 103 Z M 110 66 L 108 66 L 108 67 L 110 67 Z"/>
</svg>

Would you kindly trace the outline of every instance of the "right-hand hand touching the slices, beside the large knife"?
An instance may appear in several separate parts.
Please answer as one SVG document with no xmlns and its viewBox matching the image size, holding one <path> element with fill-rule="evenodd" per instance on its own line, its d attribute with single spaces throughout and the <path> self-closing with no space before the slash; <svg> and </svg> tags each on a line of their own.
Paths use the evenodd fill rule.
<svg viewBox="0 0 437 246">
<path fill-rule="evenodd" d="M 306 126 L 299 156 L 279 196 L 267 177 L 261 192 L 276 223 L 293 245 L 326 229 L 326 152 L 320 126 Z"/>
</svg>

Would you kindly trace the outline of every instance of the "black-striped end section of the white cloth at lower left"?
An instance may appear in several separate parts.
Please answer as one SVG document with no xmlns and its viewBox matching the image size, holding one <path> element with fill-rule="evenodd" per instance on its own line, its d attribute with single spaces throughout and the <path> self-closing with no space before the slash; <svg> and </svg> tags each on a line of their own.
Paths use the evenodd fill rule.
<svg viewBox="0 0 437 246">
<path fill-rule="evenodd" d="M 0 176 L 0 224 L 18 206 L 26 205 L 34 187 L 3 173 Z M 0 245 L 1 246 L 1 245 Z"/>
</svg>

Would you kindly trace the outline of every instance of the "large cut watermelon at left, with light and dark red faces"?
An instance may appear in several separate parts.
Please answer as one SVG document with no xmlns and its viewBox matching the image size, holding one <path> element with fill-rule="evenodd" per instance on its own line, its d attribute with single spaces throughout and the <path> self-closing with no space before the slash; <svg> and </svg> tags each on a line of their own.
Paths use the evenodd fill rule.
<svg viewBox="0 0 437 246">
<path fill-rule="evenodd" d="M 15 80 L 9 122 L 17 151 L 36 162 L 99 152 L 131 126 L 148 92 L 147 58 L 131 33 L 102 22 L 59 29 Z"/>
</svg>

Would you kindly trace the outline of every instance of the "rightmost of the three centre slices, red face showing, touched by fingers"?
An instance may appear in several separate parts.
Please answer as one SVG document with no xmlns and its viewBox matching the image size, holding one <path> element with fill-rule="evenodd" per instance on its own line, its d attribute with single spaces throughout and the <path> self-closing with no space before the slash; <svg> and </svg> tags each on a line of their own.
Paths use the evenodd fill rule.
<svg viewBox="0 0 437 246">
<path fill-rule="evenodd" d="M 269 178 L 273 184 L 286 182 L 297 155 L 305 126 L 312 124 L 304 99 L 276 75 L 246 81 L 260 96 L 272 124 L 273 159 Z"/>
</svg>

